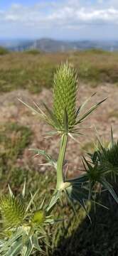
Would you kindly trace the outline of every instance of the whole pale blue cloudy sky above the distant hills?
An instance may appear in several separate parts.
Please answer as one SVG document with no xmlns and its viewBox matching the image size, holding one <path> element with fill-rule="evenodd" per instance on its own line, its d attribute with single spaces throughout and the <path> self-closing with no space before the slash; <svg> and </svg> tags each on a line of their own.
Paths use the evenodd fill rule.
<svg viewBox="0 0 118 256">
<path fill-rule="evenodd" d="M 0 0 L 0 38 L 118 40 L 118 0 Z"/>
</svg>

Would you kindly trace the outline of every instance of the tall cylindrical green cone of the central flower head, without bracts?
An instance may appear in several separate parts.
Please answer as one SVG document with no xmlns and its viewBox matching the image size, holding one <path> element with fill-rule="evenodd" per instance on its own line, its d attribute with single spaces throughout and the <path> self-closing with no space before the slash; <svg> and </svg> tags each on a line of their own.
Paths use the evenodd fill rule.
<svg viewBox="0 0 118 256">
<path fill-rule="evenodd" d="M 65 111 L 68 115 L 68 127 L 73 127 L 76 119 L 77 75 L 72 65 L 60 65 L 54 75 L 53 110 L 58 122 L 63 125 Z"/>
</svg>

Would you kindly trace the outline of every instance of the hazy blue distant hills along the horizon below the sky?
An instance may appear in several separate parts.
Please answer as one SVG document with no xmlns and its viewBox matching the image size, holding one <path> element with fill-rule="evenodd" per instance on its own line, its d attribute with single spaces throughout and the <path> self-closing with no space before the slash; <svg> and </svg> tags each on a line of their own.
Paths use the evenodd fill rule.
<svg viewBox="0 0 118 256">
<path fill-rule="evenodd" d="M 31 50 L 38 49 L 44 52 L 57 52 L 67 50 L 87 50 L 102 49 L 114 51 L 118 50 L 118 41 L 59 41 L 50 38 L 41 38 L 39 40 L 0 40 L 0 46 L 9 50 Z"/>
</svg>

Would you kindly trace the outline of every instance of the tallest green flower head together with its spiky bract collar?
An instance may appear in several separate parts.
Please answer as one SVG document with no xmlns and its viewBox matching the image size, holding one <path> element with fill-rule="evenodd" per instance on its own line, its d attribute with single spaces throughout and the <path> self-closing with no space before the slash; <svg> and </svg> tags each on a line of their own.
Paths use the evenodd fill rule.
<svg viewBox="0 0 118 256">
<path fill-rule="evenodd" d="M 92 113 L 99 105 L 106 100 L 106 98 L 95 105 L 90 107 L 84 114 L 82 113 L 87 102 L 95 95 L 95 93 L 85 100 L 79 107 L 76 107 L 77 97 L 77 73 L 73 68 L 73 65 L 63 63 L 58 68 L 54 75 L 53 80 L 53 108 L 52 110 L 43 103 L 45 111 L 41 110 L 35 102 L 36 108 L 33 108 L 22 100 L 20 100 L 26 107 L 30 108 L 33 112 L 38 114 L 38 117 L 45 120 L 50 127 L 53 127 L 53 132 L 49 132 L 48 135 L 52 134 L 80 134 L 78 124 L 81 124 L 86 117 Z"/>
</svg>

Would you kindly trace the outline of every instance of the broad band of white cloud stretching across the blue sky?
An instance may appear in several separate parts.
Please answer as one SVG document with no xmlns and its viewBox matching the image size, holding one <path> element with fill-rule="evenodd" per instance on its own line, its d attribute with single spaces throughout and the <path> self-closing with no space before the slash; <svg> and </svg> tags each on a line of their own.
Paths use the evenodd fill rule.
<svg viewBox="0 0 118 256">
<path fill-rule="evenodd" d="M 34 33 L 40 30 L 79 30 L 84 26 L 118 24 L 118 0 L 97 0 L 96 4 L 84 0 L 42 1 L 33 6 L 12 4 L 9 9 L 0 10 L 0 33 L 4 26 Z M 107 4 L 105 4 L 107 2 Z M 116 7 L 117 6 L 117 7 Z M 36 31 L 36 32 L 35 32 Z"/>
</svg>

